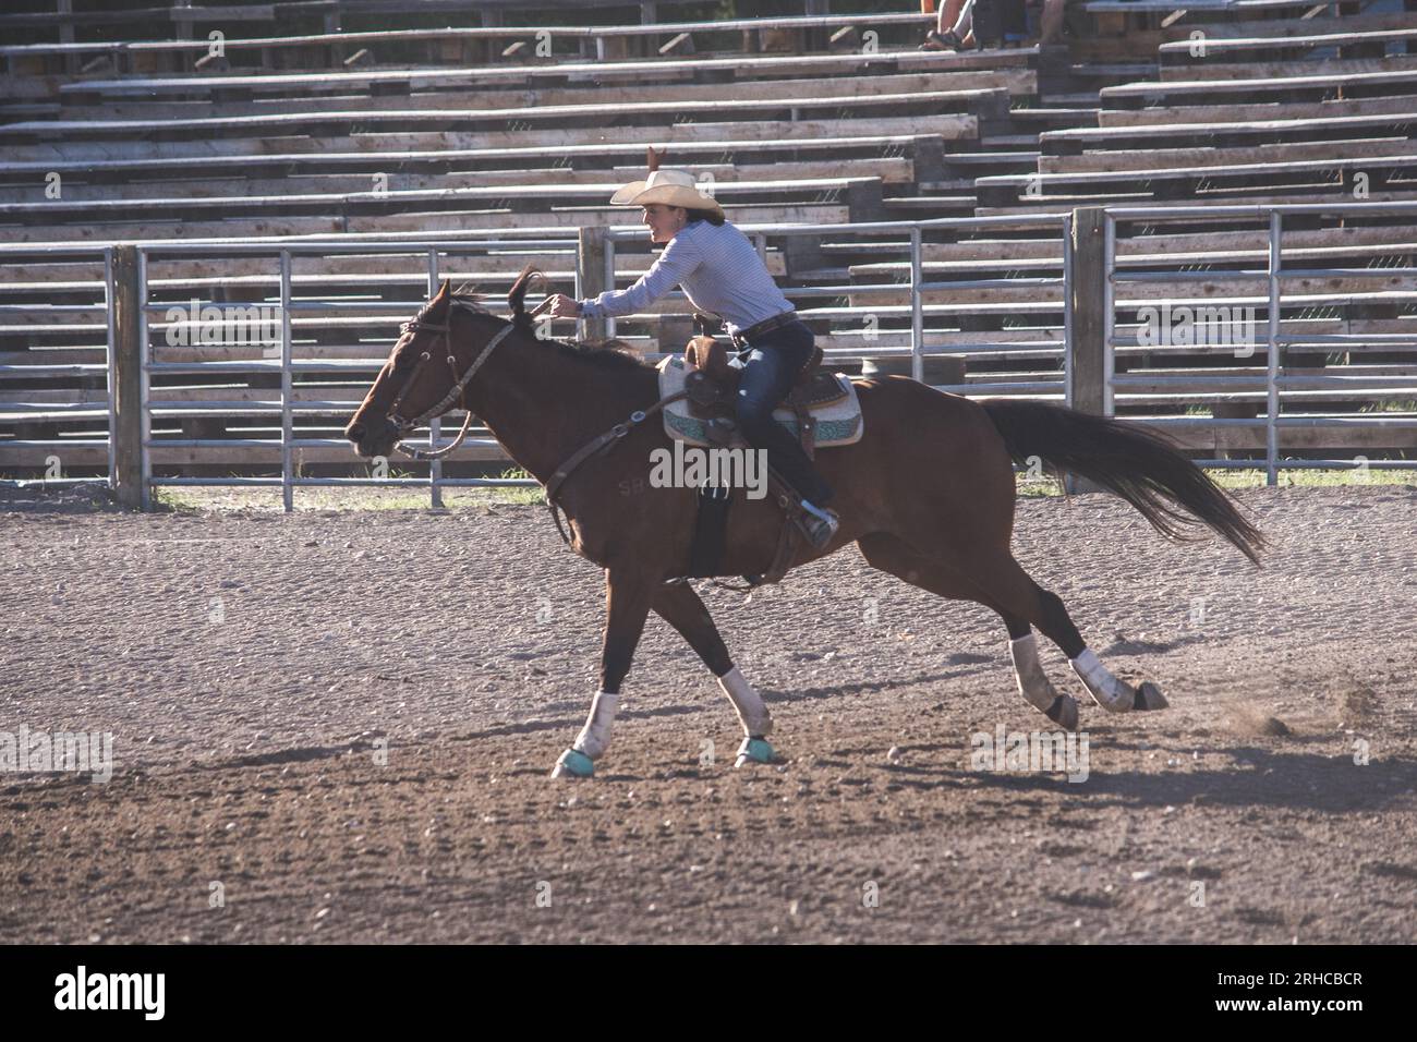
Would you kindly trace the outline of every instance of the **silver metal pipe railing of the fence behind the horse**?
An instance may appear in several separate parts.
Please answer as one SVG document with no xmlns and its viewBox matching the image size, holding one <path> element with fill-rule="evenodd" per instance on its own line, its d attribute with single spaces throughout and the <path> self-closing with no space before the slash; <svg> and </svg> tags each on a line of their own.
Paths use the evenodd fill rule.
<svg viewBox="0 0 1417 1042">
<path fill-rule="evenodd" d="M 1156 384 L 1165 386 L 1168 381 L 1179 383 L 1197 383 L 1196 377 L 1187 376 L 1142 376 L 1138 373 L 1117 373 L 1115 352 L 1121 347 L 1135 347 L 1135 337 L 1124 336 L 1118 332 L 1117 325 L 1117 292 L 1118 288 L 1127 286 L 1142 286 L 1146 282 L 1199 282 L 1199 281 L 1216 281 L 1224 276 L 1243 276 L 1251 279 L 1264 279 L 1268 285 L 1268 292 L 1264 301 L 1257 301 L 1267 303 L 1267 329 L 1264 336 L 1264 343 L 1267 349 L 1265 359 L 1265 373 L 1258 374 L 1227 374 L 1227 376 L 1207 376 L 1202 380 L 1207 387 L 1213 387 L 1217 391 L 1264 391 L 1265 400 L 1265 415 L 1255 418 L 1227 418 L 1227 417 L 1136 417 L 1142 422 L 1156 424 L 1159 427 L 1166 427 L 1172 424 L 1195 424 L 1203 422 L 1207 427 L 1214 428 L 1224 427 L 1263 427 L 1265 430 L 1265 458 L 1264 466 L 1267 472 L 1267 479 L 1270 483 L 1275 483 L 1277 474 L 1287 468 L 1332 468 L 1332 466 L 1353 466 L 1353 461 L 1332 461 L 1332 459 L 1280 459 L 1280 431 L 1284 428 L 1295 427 L 1373 427 L 1373 428 L 1411 428 L 1417 427 L 1417 418 L 1406 417 L 1370 417 L 1370 415 L 1343 415 L 1343 417 L 1314 417 L 1314 415 L 1282 415 L 1281 407 L 1285 401 L 1285 394 L 1298 390 L 1322 390 L 1332 391 L 1333 397 L 1373 397 L 1374 394 L 1384 393 L 1411 393 L 1417 397 L 1417 377 L 1355 377 L 1355 376 L 1288 376 L 1284 370 L 1282 356 L 1284 349 L 1291 346 L 1339 346 L 1353 344 L 1353 343 L 1373 343 L 1374 335 L 1360 335 L 1360 333 L 1335 333 L 1335 335 L 1285 335 L 1284 333 L 1284 308 L 1291 306 L 1292 301 L 1289 295 L 1282 292 L 1281 281 L 1284 276 L 1289 275 L 1335 275 L 1342 274 L 1343 276 L 1370 276 L 1382 278 L 1391 276 L 1396 274 L 1403 274 L 1404 269 L 1396 268 L 1346 268 L 1340 271 L 1328 268 L 1302 268 L 1302 267 L 1288 267 L 1284 261 L 1282 252 L 1282 235 L 1285 228 L 1285 218 L 1298 214 L 1323 214 L 1323 215 L 1348 215 L 1355 217 L 1379 217 L 1379 215 L 1400 215 L 1413 218 L 1417 217 L 1417 203 L 1353 203 L 1353 204 L 1302 204 L 1302 206 L 1224 206 L 1224 207 L 1132 207 L 1132 206 L 1117 206 L 1105 208 L 1104 220 L 1104 244 L 1101 250 L 1101 264 L 1104 268 L 1105 278 L 1101 279 L 1104 301 L 1102 301 L 1102 329 L 1104 336 L 1101 343 L 1102 356 L 1102 373 L 1101 373 L 1101 387 L 1095 387 L 1091 383 L 1094 377 L 1088 377 L 1087 386 L 1087 401 L 1101 401 L 1101 411 L 1105 415 L 1115 415 L 1118 397 L 1121 397 L 1122 404 L 1127 404 L 1128 398 L 1138 397 L 1135 390 L 1139 384 Z M 1141 271 L 1139 268 L 1158 268 L 1165 264 L 1165 255 L 1149 257 L 1142 262 L 1118 262 L 1118 233 L 1117 225 L 1135 224 L 1145 221 L 1148 224 L 1165 224 L 1169 221 L 1197 221 L 1200 218 L 1214 220 L 1234 220 L 1234 221 L 1254 221 L 1265 223 L 1268 228 L 1268 262 L 1263 271 L 1244 271 L 1244 272 L 1200 272 L 1200 271 L 1182 271 L 1182 269 L 1162 269 L 1162 271 Z M 752 238 L 758 248 L 760 257 L 767 258 L 768 244 L 772 241 L 794 240 L 798 237 L 811 237 L 816 240 L 829 238 L 833 242 L 845 242 L 850 238 L 866 238 L 871 241 L 876 247 L 890 245 L 896 250 L 891 251 L 893 255 L 904 257 L 908 262 L 908 281 L 904 282 L 883 282 L 883 284 L 854 284 L 854 285 L 808 285 L 808 286 L 791 286 L 784 292 L 796 301 L 812 301 L 823 298 L 870 298 L 871 295 L 900 295 L 908 293 L 908 309 L 900 305 L 891 305 L 888 308 L 873 309 L 869 303 L 853 303 L 849 308 L 801 308 L 803 318 L 828 318 L 840 319 L 842 316 L 870 316 L 874 312 L 887 313 L 900 323 L 905 318 L 908 310 L 908 327 L 897 329 L 881 329 L 879 330 L 874 340 L 879 343 L 866 343 L 864 346 L 853 347 L 832 347 L 826 346 L 825 353 L 829 360 L 846 360 L 846 359 L 876 359 L 876 360 L 901 360 L 910 359 L 910 371 L 917 380 L 922 380 L 925 376 L 925 363 L 928 359 L 948 359 L 959 356 L 971 356 L 981 352 L 992 352 L 1000 356 L 1007 356 L 1012 350 L 1027 350 L 1034 356 L 1043 354 L 1044 357 L 1057 353 L 1061 369 L 1061 381 L 1047 379 L 1047 374 L 1039 374 L 1037 379 L 1029 380 L 990 380 L 988 373 L 981 374 L 982 379 L 976 379 L 973 383 L 959 383 L 959 384 L 938 384 L 939 390 L 959 393 L 959 394 L 1016 394 L 1029 393 L 1036 397 L 1058 397 L 1067 404 L 1074 404 L 1076 388 L 1076 349 L 1080 346 L 1074 343 L 1074 288 L 1077 284 L 1078 259 L 1074 255 L 1074 235 L 1073 227 L 1076 223 L 1076 214 L 1033 214 L 1022 217 L 983 217 L 983 218 L 935 218 L 922 221 L 880 221 L 880 223 L 863 223 L 863 224 L 794 224 L 794 225 L 738 225 L 745 234 Z M 1007 337 L 998 337 L 989 340 L 988 343 L 973 343 L 971 337 L 964 335 L 961 330 L 959 336 L 955 336 L 949 343 L 942 343 L 938 339 L 932 342 L 931 330 L 927 329 L 927 303 L 925 296 L 934 292 L 951 292 L 962 289 L 989 289 L 998 286 L 1017 285 L 1015 281 L 1002 279 L 966 279 L 966 281 L 927 281 L 925 278 L 925 261 L 924 261 L 924 237 L 931 231 L 951 231 L 951 233 L 979 233 L 989 231 L 992 228 L 1007 228 L 1007 230 L 1056 230 L 1061 235 L 1060 254 L 1063 259 L 1061 276 L 1057 279 L 1033 279 L 1030 285 L 1039 284 L 1053 284 L 1061 288 L 1064 302 L 1058 305 L 1057 309 L 1063 312 L 1063 339 L 1061 342 L 1040 340 L 1037 337 L 1029 340 L 1010 342 Z M 300 373 L 337 373 L 337 371 L 353 371 L 353 370 L 374 370 L 383 364 L 383 357 L 368 359 L 368 360 L 298 360 L 292 357 L 292 319 L 295 315 L 319 315 L 319 313 L 337 313 L 350 306 L 349 301 L 327 302 L 316 299 L 298 299 L 296 296 L 296 279 L 292 275 L 292 259 L 305 255 L 319 255 L 319 257 L 359 257 L 359 255 L 424 255 L 427 261 L 427 279 L 428 292 L 432 295 L 436 291 L 439 281 L 439 258 L 441 257 L 455 257 L 479 254 L 492 250 L 550 250 L 555 252 L 564 251 L 567 257 L 575 255 L 577 244 L 570 238 L 547 238 L 544 231 L 540 233 L 541 238 L 520 238 L 516 233 L 486 233 L 490 238 L 439 238 L 439 240 L 417 240 L 417 238 L 397 238 L 397 237 L 381 237 L 368 240 L 313 240 L 313 241 L 293 241 L 293 240 L 278 240 L 278 241 L 261 241 L 261 242 L 143 242 L 136 245 L 137 251 L 137 288 L 136 299 L 140 302 L 140 327 L 137 332 L 136 343 L 140 349 L 139 371 L 140 371 L 140 474 L 142 474 L 142 505 L 146 508 L 150 505 L 152 488 L 154 486 L 180 486 L 180 485 L 268 485 L 279 486 L 282 489 L 282 499 L 286 509 L 293 506 L 293 489 L 300 486 L 343 486 L 343 485 L 370 485 L 370 486 L 422 486 L 429 489 L 431 503 L 434 506 L 441 506 L 442 496 L 441 491 L 444 488 L 452 486 L 492 486 L 492 485 L 536 485 L 531 479 L 507 479 L 507 478 L 446 478 L 442 472 L 442 464 L 439 461 L 432 461 L 429 465 L 429 474 L 427 478 L 312 478 L 296 472 L 295 454 L 302 448 L 327 448 L 333 445 L 346 447 L 346 442 L 340 438 L 302 438 L 296 437 L 296 430 L 293 424 L 293 414 L 298 411 L 326 411 L 326 413 L 344 413 L 351 408 L 349 401 L 295 401 L 295 377 Z M 529 233 L 531 234 L 531 233 Z M 575 292 L 578 296 L 594 295 L 595 285 L 585 285 L 585 282 L 598 284 L 601 289 L 614 289 L 616 286 L 616 244 L 639 241 L 642 242 L 646 235 L 643 227 L 614 227 L 604 230 L 604 264 L 599 271 L 589 271 L 585 264 L 585 255 L 577 255 L 577 286 Z M 884 237 L 886 242 L 881 242 Z M 849 244 L 847 244 L 849 245 Z M 0 259 L 6 255 L 44 255 L 61 259 L 68 258 L 86 258 L 96 259 L 103 258 L 105 269 L 105 285 L 103 285 L 103 306 L 106 310 L 108 323 L 108 420 L 109 420 L 109 438 L 106 444 L 108 452 L 108 476 L 109 483 L 116 483 L 116 452 L 115 441 L 116 431 L 119 430 L 118 415 L 116 415 L 116 397 L 113 388 L 116 386 L 115 376 L 115 356 L 118 352 L 118 330 L 115 329 L 115 301 L 118 299 L 118 286 L 115 285 L 113 274 L 113 251 L 115 247 L 95 248 L 95 247 L 45 247 L 45 245 L 28 245 L 28 247 L 0 247 Z M 266 257 L 271 258 L 273 265 L 278 265 L 279 272 L 279 292 L 275 299 L 269 301 L 266 306 L 276 309 L 279 315 L 279 353 L 278 356 L 272 352 L 271 354 L 252 359 L 252 360 L 232 360 L 232 362 L 154 362 L 150 357 L 150 329 L 149 329 L 149 313 L 167 306 L 162 302 L 150 301 L 149 284 L 147 284 L 147 265 L 152 258 L 166 259 L 166 258 L 210 258 L 210 257 Z M 1095 258 L 1097 254 L 1090 254 L 1088 257 Z M 1056 262 L 1056 261 L 1053 261 Z M 1085 264 L 1095 264 L 1095 259 L 1085 259 Z M 1020 267 L 1039 265 L 1039 261 L 1020 261 Z M 1043 262 L 1047 267 L 1049 262 Z M 1179 264 L 1179 262 L 1178 262 Z M 1186 261 L 1185 264 L 1195 265 L 1195 261 Z M 901 265 L 904 267 L 904 264 Z M 1411 272 L 1407 272 L 1411 274 Z M 1408 293 L 1413 302 L 1417 302 L 1417 291 Z M 672 293 L 669 299 L 683 298 L 683 293 Z M 411 302 L 404 305 L 401 302 L 370 302 L 359 301 L 357 306 L 364 310 L 390 310 L 395 309 L 400 312 L 400 318 L 404 318 L 405 312 L 408 316 L 417 310 L 417 303 Z M 1049 305 L 1050 308 L 1053 305 Z M 91 306 L 89 306 L 91 308 Z M 622 320 L 632 320 L 633 316 L 623 316 Z M 606 329 L 611 335 L 615 333 L 615 319 L 606 319 Z M 1095 329 L 1095 326 L 1093 326 Z M 850 332 L 850 330 L 847 330 Z M 867 337 L 869 340 L 871 337 Z M 1383 343 L 1391 343 L 1399 347 L 1417 347 L 1417 337 L 1410 335 L 1390 335 L 1379 336 Z M 1095 343 L 1095 340 L 1094 340 Z M 677 344 L 674 344 L 677 350 Z M 649 354 L 646 352 L 646 354 Z M 650 356 L 653 357 L 653 356 Z M 21 373 L 26 366 L 4 366 L 0 371 L 4 373 Z M 89 366 L 89 369 L 96 369 L 96 366 Z M 176 374 L 205 374 L 205 373 L 224 373 L 224 371 L 239 371 L 239 373 L 279 373 L 281 387 L 279 400 L 271 403 L 249 403 L 249 408 L 242 410 L 251 414 L 266 414 L 273 415 L 275 413 L 281 417 L 281 437 L 279 439 L 269 438 L 153 438 L 153 414 L 163 413 L 167 415 L 181 415 L 187 413 L 188 415 L 198 415 L 203 405 L 210 403 L 180 403 L 180 401 L 154 401 L 152 391 L 152 377 L 156 376 L 176 376 Z M 1100 391 L 1100 393 L 1098 393 Z M 1328 396 L 1325 396 L 1328 397 Z M 1085 403 L 1084 403 L 1085 404 Z M 57 413 L 61 415 L 62 410 Z M 428 428 L 428 445 L 438 447 L 441 438 L 439 424 L 434 421 Z M 31 442 L 9 441 L 9 445 L 27 447 Z M 38 442 L 34 442 L 35 445 Z M 496 447 L 496 441 L 492 438 L 472 438 L 466 442 L 473 447 L 480 447 L 490 449 Z M 153 449 L 154 448 L 190 448 L 190 449 L 205 449 L 205 448 L 269 448 L 272 451 L 279 451 L 281 458 L 281 475 L 279 476 L 227 476 L 227 478 L 207 478 L 207 476 L 154 476 L 153 475 Z M 1216 468 L 1233 468 L 1233 466 L 1254 466 L 1260 461 L 1257 459 L 1200 459 L 1197 461 L 1203 466 Z M 1373 468 L 1384 466 L 1410 466 L 1408 461 L 1369 461 Z M 72 481 L 72 479 L 71 479 Z M 82 479 L 79 479 L 82 481 Z"/>
</svg>

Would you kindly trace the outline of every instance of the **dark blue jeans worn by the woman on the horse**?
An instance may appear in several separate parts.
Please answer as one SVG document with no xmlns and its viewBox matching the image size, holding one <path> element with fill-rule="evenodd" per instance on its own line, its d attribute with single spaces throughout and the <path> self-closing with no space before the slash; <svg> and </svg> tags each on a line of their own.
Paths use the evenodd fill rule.
<svg viewBox="0 0 1417 1042">
<path fill-rule="evenodd" d="M 738 381 L 737 411 L 738 430 L 750 445 L 767 449 L 768 466 L 809 503 L 825 506 L 832 499 L 830 486 L 818 475 L 802 444 L 772 418 L 772 410 L 812 357 L 815 342 L 803 322 L 789 322 L 754 337 Z"/>
</svg>

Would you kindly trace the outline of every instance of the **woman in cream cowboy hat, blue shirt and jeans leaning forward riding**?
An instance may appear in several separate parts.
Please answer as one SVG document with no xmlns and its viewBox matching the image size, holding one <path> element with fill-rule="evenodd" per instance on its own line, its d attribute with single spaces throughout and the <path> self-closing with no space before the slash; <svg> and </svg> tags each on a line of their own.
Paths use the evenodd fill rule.
<svg viewBox="0 0 1417 1042">
<path fill-rule="evenodd" d="M 734 343 L 748 352 L 738 383 L 738 430 L 750 445 L 767 451 L 768 465 L 802 496 L 803 530 L 823 549 L 840 523 L 835 510 L 823 509 L 832 489 L 796 438 L 772 418 L 812 357 L 812 330 L 796 318 L 748 237 L 699 191 L 693 174 L 652 169 L 648 180 L 626 184 L 611 203 L 643 207 L 650 241 L 665 252 L 629 289 L 587 301 L 555 295 L 551 316 L 632 315 L 677 285 L 696 309 L 726 319 Z"/>
</svg>

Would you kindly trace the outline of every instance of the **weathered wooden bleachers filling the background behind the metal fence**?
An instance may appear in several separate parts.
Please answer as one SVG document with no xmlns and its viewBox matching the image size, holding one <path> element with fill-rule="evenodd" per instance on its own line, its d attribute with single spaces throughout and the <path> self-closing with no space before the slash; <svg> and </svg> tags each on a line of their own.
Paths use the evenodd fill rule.
<svg viewBox="0 0 1417 1042">
<path fill-rule="evenodd" d="M 405 18 L 408 3 L 275 3 L 271 18 L 244 26 L 249 38 L 228 40 L 224 58 L 201 67 L 210 11 L 153 23 L 187 26 L 196 40 L 180 31 L 120 40 L 112 30 L 130 21 L 78 18 L 64 40 L 62 17 L 21 26 L 0 16 L 10 34 L 0 47 L 0 233 L 35 251 L 0 255 L 0 472 L 33 474 L 57 448 L 67 468 L 103 462 L 102 258 L 47 247 L 211 240 L 210 255 L 154 255 L 153 299 L 242 303 L 273 299 L 275 267 L 269 257 L 224 257 L 224 241 L 499 235 L 541 245 L 451 258 L 445 269 L 497 296 L 534 259 L 568 292 L 577 228 L 633 223 L 605 200 L 639 176 L 643 147 L 655 143 L 676 166 L 711 177 L 740 225 L 996 217 L 925 237 L 924 275 L 948 286 L 925 296 L 927 344 L 952 353 L 931 359 L 927 379 L 1057 398 L 1063 254 L 1056 224 L 1040 215 L 1108 201 L 1350 198 L 1359 173 L 1374 200 L 1413 197 L 1407 13 L 1091 0 L 1071 4 L 1066 48 L 941 55 L 914 50 L 928 24 L 914 13 L 829 16 L 805 4 L 811 17 L 714 23 L 673 4 L 683 17 L 659 23 L 655 6 L 594 6 L 631 18 L 553 30 L 551 54 L 537 55 L 534 26 L 507 24 L 516 13 L 503 4 L 459 4 L 456 16 L 444 7 L 445 20 L 469 24 L 439 28 Z M 18 28 L 30 35 L 14 35 Z M 1192 54 L 1197 28 L 1204 58 Z M 862 47 L 864 30 L 879 30 L 879 50 Z M 47 174 L 62 180 L 58 198 L 45 196 Z M 833 364 L 854 370 L 853 352 L 898 352 L 908 342 L 901 234 L 816 242 L 769 234 L 764 248 L 788 296 L 829 336 Z M 1295 371 L 1382 380 L 1400 370 L 1410 356 L 1393 343 L 1411 332 L 1414 250 L 1410 227 L 1297 223 L 1285 264 L 1323 274 L 1285 279 L 1298 303 L 1282 316 L 1284 332 L 1372 339 L 1342 359 L 1299 353 L 1305 364 Z M 1134 228 L 1118 240 L 1118 258 L 1141 271 L 1214 272 L 1118 295 L 1118 371 L 1135 377 L 1121 408 L 1161 417 L 1197 451 L 1253 451 L 1257 435 L 1263 445 L 1263 431 L 1186 413 L 1216 404 L 1253 414 L 1253 391 L 1217 391 L 1216 379 L 1254 376 L 1263 344 L 1247 360 L 1210 344 L 1148 349 L 1128 342 L 1127 318 L 1159 296 L 1254 306 L 1265 289 L 1254 275 L 1267 258 L 1260 228 Z M 643 242 L 622 244 L 616 282 L 633 281 L 652 259 Z M 424 264 L 418 252 L 397 262 L 296 258 L 300 295 L 337 303 L 337 313 L 293 319 L 300 437 L 336 432 L 422 296 Z M 1374 267 L 1393 272 L 1345 274 Z M 648 353 L 670 349 L 684 335 L 682 310 L 662 302 L 616 332 Z M 244 367 L 154 374 L 160 438 L 269 439 L 279 373 L 259 349 L 169 347 L 157 313 L 152 329 L 159 363 Z M 1338 418 L 1363 405 L 1323 388 L 1294 401 Z M 31 447 L 6 448 L 7 432 Z M 1321 451 L 1335 435 L 1285 437 L 1297 451 Z M 1410 430 L 1383 431 L 1387 441 L 1345 437 L 1373 451 L 1414 444 Z M 332 474 L 349 466 L 339 445 L 300 454 Z M 256 458 L 269 459 L 269 449 L 154 449 L 156 465 L 186 474 Z M 485 445 L 468 447 L 449 466 L 497 459 Z"/>
</svg>

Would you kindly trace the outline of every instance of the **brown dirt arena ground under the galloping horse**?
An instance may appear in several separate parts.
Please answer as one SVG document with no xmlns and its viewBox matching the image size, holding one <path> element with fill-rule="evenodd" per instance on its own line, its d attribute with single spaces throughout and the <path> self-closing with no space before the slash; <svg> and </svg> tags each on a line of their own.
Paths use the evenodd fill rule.
<svg viewBox="0 0 1417 1042">
<path fill-rule="evenodd" d="M 1088 702 L 1080 783 L 972 770 L 973 734 L 1051 727 L 1002 624 L 854 547 L 751 603 L 706 594 L 778 766 L 733 768 L 727 700 L 652 618 L 599 775 L 554 783 L 595 689 L 602 576 L 544 510 L 4 495 L 0 732 L 111 732 L 115 771 L 0 775 L 0 940 L 1417 933 L 1411 485 L 1238 493 L 1263 570 L 1107 496 L 1020 500 L 1024 567 L 1172 702 Z"/>
</svg>

